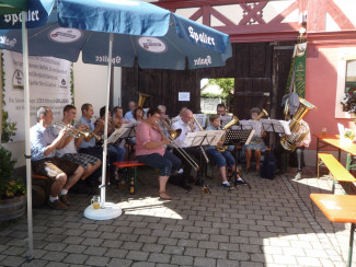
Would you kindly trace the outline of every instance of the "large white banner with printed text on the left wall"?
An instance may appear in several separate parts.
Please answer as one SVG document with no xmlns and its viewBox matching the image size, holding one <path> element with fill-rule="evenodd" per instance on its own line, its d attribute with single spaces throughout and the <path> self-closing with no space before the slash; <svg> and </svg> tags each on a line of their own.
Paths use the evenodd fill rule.
<svg viewBox="0 0 356 267">
<path fill-rule="evenodd" d="M 3 54 L 3 111 L 8 113 L 7 123 L 15 123 L 16 131 L 12 141 L 25 139 L 24 90 L 22 55 L 1 50 Z M 71 62 L 51 57 L 28 57 L 30 81 L 30 125 L 35 125 L 36 111 L 48 106 L 54 114 L 53 121 L 62 118 L 62 109 L 72 103 Z"/>
</svg>

